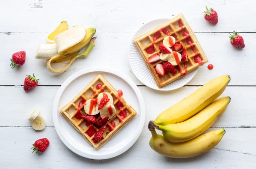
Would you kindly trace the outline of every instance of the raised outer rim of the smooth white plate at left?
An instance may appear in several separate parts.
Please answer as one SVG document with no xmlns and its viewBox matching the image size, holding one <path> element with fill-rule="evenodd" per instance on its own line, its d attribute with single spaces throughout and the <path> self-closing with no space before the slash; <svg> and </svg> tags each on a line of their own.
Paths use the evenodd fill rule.
<svg viewBox="0 0 256 169">
<path fill-rule="evenodd" d="M 79 77 L 81 75 L 84 75 L 84 74 L 91 73 L 91 72 L 106 72 L 106 73 L 110 73 L 110 74 L 116 75 L 118 78 L 121 78 L 122 80 L 125 80 L 126 83 L 128 83 L 131 86 L 131 88 L 134 90 L 134 92 L 135 92 L 135 94 L 136 94 L 136 96 L 137 96 L 137 98 L 139 100 L 139 107 L 140 107 L 140 115 L 139 115 L 140 121 L 139 121 L 139 127 L 138 127 L 139 130 L 137 131 L 137 133 L 135 134 L 135 136 L 133 137 L 133 139 L 130 142 L 127 142 L 127 144 L 125 146 L 123 146 L 121 149 L 119 149 L 118 151 L 115 151 L 115 152 L 113 152 L 111 154 L 93 155 L 93 154 L 87 154 L 85 152 L 79 151 L 78 149 L 74 148 L 65 139 L 64 136 L 62 136 L 59 127 L 56 127 L 56 126 L 58 126 L 58 103 L 59 103 L 59 99 L 60 99 L 62 93 L 67 88 L 67 86 L 70 83 L 72 83 L 72 81 L 75 80 L 77 77 Z M 115 72 L 114 70 L 109 69 L 109 68 L 102 68 L 102 67 L 97 67 L 96 66 L 96 67 L 82 69 L 81 71 L 78 71 L 78 72 L 70 75 L 62 83 L 62 85 L 58 89 L 58 91 L 57 91 L 57 93 L 55 95 L 54 101 L 53 101 L 52 114 L 53 114 L 52 117 L 53 117 L 53 124 L 54 124 L 55 131 L 56 131 L 58 137 L 61 139 L 62 143 L 64 143 L 64 145 L 67 148 L 69 148 L 75 154 L 78 154 L 78 155 L 80 155 L 82 157 L 85 157 L 85 158 L 90 158 L 90 159 L 95 159 L 95 160 L 104 160 L 104 159 L 116 157 L 116 156 L 124 153 L 129 148 L 131 148 L 131 146 L 133 146 L 134 143 L 139 139 L 139 136 L 142 133 L 142 130 L 143 130 L 143 127 L 144 127 L 144 122 L 145 122 L 145 102 L 144 102 L 143 96 L 142 96 L 138 86 L 127 75 L 122 74 L 120 72 Z"/>
</svg>

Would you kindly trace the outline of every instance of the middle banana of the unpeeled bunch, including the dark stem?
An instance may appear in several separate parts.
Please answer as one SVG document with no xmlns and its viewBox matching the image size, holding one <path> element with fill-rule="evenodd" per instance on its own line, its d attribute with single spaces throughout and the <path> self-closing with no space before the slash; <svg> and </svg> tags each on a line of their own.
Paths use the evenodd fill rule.
<svg viewBox="0 0 256 169">
<path fill-rule="evenodd" d="M 212 126 L 225 112 L 229 103 L 230 97 L 222 97 L 186 121 L 168 125 L 155 125 L 153 122 L 149 122 L 149 128 L 162 130 L 163 136 L 169 142 L 185 142 L 199 136 Z"/>
</svg>

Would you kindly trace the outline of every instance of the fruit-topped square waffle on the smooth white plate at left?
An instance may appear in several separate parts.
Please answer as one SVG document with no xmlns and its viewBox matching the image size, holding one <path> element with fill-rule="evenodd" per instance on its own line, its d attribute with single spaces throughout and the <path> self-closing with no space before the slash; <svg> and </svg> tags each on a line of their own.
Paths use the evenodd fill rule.
<svg viewBox="0 0 256 169">
<path fill-rule="evenodd" d="M 101 98 L 101 100 L 98 101 L 98 98 L 100 98 L 98 97 L 99 95 L 108 95 L 107 98 L 109 98 L 110 101 L 107 100 L 108 104 L 106 104 L 105 106 L 111 105 L 113 107 L 113 110 L 111 109 L 111 106 L 105 108 L 108 108 L 108 113 L 111 112 L 108 116 L 113 117 L 111 119 L 107 118 L 108 120 L 104 126 L 104 128 L 106 128 L 104 129 L 101 140 L 97 141 L 94 136 L 100 130 L 100 128 L 102 128 L 101 126 L 99 126 L 100 123 L 98 123 L 97 126 L 97 122 L 100 122 L 102 120 L 101 116 L 103 116 L 103 119 L 104 116 L 106 116 L 106 114 L 104 114 L 106 113 L 106 111 L 101 111 L 105 110 L 104 107 L 98 110 L 98 106 L 99 104 L 101 104 L 101 100 L 103 100 L 103 98 Z M 113 98 L 113 103 L 111 97 Z M 99 103 L 90 104 L 92 103 L 90 99 L 94 99 L 94 101 Z M 87 108 L 84 108 L 86 105 Z M 90 108 L 89 112 L 88 107 L 92 107 L 92 109 Z M 101 112 L 97 113 L 98 111 Z M 114 134 L 116 134 L 122 127 L 124 127 L 132 118 L 134 118 L 134 116 L 136 116 L 136 111 L 133 109 L 133 107 L 127 104 L 126 101 L 123 99 L 122 91 L 117 91 L 102 74 L 98 74 L 87 86 L 85 86 L 84 89 L 82 89 L 81 92 L 79 92 L 79 94 L 76 95 L 75 98 L 72 99 L 72 101 L 62 107 L 60 113 L 67 119 L 67 121 L 70 122 L 70 124 L 72 124 L 72 126 L 80 134 L 82 134 L 82 136 L 87 140 L 88 143 L 93 145 L 94 149 L 99 149 L 111 137 L 113 137 Z M 87 117 L 94 116 L 96 122 L 90 122 L 84 118 L 81 118 L 81 115 L 86 115 Z"/>
</svg>

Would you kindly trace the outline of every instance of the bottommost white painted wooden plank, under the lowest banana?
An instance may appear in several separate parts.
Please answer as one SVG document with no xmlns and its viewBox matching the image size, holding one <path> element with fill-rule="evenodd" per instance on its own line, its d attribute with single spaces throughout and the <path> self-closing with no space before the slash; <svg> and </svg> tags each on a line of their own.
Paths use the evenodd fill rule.
<svg viewBox="0 0 256 169">
<path fill-rule="evenodd" d="M 211 128 L 210 130 L 215 130 Z M 256 128 L 225 128 L 221 142 L 206 154 L 194 158 L 172 159 L 149 147 L 151 134 L 144 128 L 138 141 L 122 155 L 109 160 L 90 160 L 70 151 L 58 138 L 54 128 L 35 132 L 32 128 L 1 127 L 0 163 L 4 169 L 20 168 L 172 168 L 252 169 L 256 159 Z M 42 154 L 31 153 L 35 140 L 47 137 L 50 145 Z M 245 139 L 246 138 L 246 139 Z M 113 137 L 114 139 L 114 137 Z M 88 144 L 84 141 L 85 144 Z M 7 146 L 8 145 L 8 146 Z M 102 147 L 104 148 L 104 147 Z M 4 153 L 3 153 L 4 152 Z"/>
</svg>

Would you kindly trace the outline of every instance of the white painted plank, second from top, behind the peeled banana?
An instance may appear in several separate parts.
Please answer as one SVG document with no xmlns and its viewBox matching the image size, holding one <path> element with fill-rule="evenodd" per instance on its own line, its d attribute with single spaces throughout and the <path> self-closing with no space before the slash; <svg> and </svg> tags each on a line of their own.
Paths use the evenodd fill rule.
<svg viewBox="0 0 256 169">
<path fill-rule="evenodd" d="M 46 69 L 44 60 L 35 59 L 35 52 L 40 43 L 44 42 L 47 33 L 11 33 L 1 34 L 1 46 L 4 50 L 0 54 L 0 85 L 22 85 L 27 74 L 33 74 L 40 79 L 40 85 L 61 85 L 66 78 L 83 68 L 91 66 L 105 66 L 116 69 L 128 75 L 136 84 L 142 83 L 133 75 L 128 61 L 129 45 L 134 33 L 98 33 L 96 32 L 96 46 L 85 59 L 77 59 L 63 74 L 52 74 Z M 256 85 L 256 69 L 253 60 L 254 39 L 256 33 L 243 33 L 246 47 L 242 50 L 230 45 L 228 33 L 196 33 L 209 63 L 213 70 L 207 69 L 207 64 L 200 67 L 198 73 L 188 84 L 205 84 L 214 77 L 229 74 L 229 85 Z M 10 69 L 12 53 L 25 50 L 26 62 L 18 69 Z M 67 62 L 66 62 L 67 63 Z M 59 66 L 65 66 L 62 63 Z"/>
</svg>

